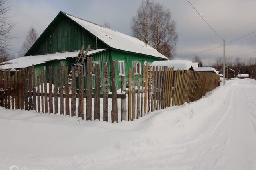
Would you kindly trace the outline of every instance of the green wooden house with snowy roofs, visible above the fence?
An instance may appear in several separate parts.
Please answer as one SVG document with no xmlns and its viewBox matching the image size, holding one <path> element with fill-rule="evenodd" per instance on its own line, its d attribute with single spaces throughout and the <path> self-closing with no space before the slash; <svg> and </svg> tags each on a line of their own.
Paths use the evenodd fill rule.
<svg viewBox="0 0 256 170">
<path fill-rule="evenodd" d="M 145 64 L 168 59 L 137 38 L 60 11 L 25 57 L 7 61 L 0 69 L 19 69 L 34 64 L 36 76 L 42 74 L 43 66 L 47 69 L 52 66 L 53 69 L 62 65 L 69 66 L 70 69 L 82 45 L 91 45 L 87 56 L 92 57 L 93 63 L 100 64 L 101 77 L 103 63 L 109 63 L 111 75 L 110 63 L 112 60 L 116 61 L 118 88 L 120 76 L 128 76 L 128 69 L 132 67 L 133 62 Z M 86 61 L 84 69 L 86 70 Z M 86 77 L 86 72 L 84 76 Z"/>
</svg>

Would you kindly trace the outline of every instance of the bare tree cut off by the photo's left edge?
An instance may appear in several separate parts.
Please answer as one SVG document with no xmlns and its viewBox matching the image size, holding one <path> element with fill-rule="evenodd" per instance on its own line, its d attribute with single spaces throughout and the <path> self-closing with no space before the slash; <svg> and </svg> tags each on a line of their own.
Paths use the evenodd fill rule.
<svg viewBox="0 0 256 170">
<path fill-rule="evenodd" d="M 10 21 L 10 4 L 6 0 L 0 0 L 0 63 L 8 60 L 8 43 L 11 38 L 10 31 L 15 23 Z"/>
</svg>

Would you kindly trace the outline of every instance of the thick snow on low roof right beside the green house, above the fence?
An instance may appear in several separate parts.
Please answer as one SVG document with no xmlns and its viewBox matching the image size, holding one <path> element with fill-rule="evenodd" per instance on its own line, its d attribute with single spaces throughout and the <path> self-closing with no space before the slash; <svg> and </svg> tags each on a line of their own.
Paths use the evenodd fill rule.
<svg viewBox="0 0 256 170">
<path fill-rule="evenodd" d="M 179 69 L 188 70 L 193 65 L 197 67 L 196 64 L 193 64 L 192 61 L 189 61 L 189 60 L 154 61 L 151 63 L 151 66 L 167 66 L 169 68 L 174 67 L 174 71 L 177 71 Z"/>
</svg>

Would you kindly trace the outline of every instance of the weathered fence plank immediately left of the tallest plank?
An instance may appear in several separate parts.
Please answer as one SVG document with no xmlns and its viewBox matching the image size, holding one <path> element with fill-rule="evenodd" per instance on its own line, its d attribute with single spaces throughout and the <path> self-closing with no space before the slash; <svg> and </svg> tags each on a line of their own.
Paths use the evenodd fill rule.
<svg viewBox="0 0 256 170">
<path fill-rule="evenodd" d="M 82 119 L 84 119 L 84 70 L 82 65 L 78 67 L 78 88 L 78 117 L 82 117 Z M 100 105 L 97 105 L 96 107 L 99 106 Z"/>
</svg>

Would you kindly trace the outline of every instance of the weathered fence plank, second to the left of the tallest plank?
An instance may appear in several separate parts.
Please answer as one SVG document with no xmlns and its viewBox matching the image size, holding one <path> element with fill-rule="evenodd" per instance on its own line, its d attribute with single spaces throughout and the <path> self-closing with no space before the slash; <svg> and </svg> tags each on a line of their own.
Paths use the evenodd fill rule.
<svg viewBox="0 0 256 170">
<path fill-rule="evenodd" d="M 76 116 L 76 67 L 72 66 L 72 82 L 71 82 L 71 116 Z M 88 75 L 87 75 L 88 76 Z M 86 105 L 87 107 L 87 105 Z"/>
</svg>

